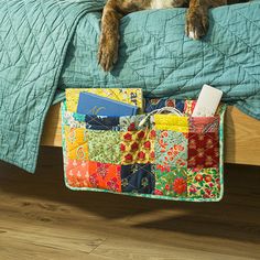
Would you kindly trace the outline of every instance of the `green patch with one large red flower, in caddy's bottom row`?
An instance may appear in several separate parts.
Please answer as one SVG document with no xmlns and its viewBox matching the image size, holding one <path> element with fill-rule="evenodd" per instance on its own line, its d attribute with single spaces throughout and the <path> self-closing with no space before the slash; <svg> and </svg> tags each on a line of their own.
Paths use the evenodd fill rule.
<svg viewBox="0 0 260 260">
<path fill-rule="evenodd" d="M 155 195 L 170 197 L 186 197 L 187 170 L 184 167 L 154 166 Z"/>
</svg>

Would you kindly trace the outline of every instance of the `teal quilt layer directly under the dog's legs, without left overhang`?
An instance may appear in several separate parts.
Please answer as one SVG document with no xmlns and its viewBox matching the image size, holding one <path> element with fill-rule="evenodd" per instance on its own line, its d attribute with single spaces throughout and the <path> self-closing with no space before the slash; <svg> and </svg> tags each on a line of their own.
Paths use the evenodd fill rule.
<svg viewBox="0 0 260 260">
<path fill-rule="evenodd" d="M 97 64 L 100 14 L 89 13 L 78 24 L 61 88 L 140 87 L 145 97 L 187 99 L 207 83 L 260 119 L 259 13 L 256 0 L 213 9 L 203 41 L 184 35 L 184 9 L 131 13 L 121 21 L 120 58 L 111 74 Z"/>
</svg>

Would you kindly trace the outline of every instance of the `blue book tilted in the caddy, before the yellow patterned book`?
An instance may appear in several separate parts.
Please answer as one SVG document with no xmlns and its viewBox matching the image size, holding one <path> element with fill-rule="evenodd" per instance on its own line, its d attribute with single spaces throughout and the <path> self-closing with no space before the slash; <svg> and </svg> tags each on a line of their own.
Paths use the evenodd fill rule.
<svg viewBox="0 0 260 260">
<path fill-rule="evenodd" d="M 80 93 L 77 112 L 90 116 L 124 117 L 137 115 L 138 107 L 90 93 Z"/>
</svg>

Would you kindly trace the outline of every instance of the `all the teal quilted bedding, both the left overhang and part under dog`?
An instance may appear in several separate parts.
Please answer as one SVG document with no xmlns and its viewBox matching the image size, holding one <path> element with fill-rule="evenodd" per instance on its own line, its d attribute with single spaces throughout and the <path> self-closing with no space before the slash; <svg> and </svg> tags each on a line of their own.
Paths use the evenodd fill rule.
<svg viewBox="0 0 260 260">
<path fill-rule="evenodd" d="M 214 9 L 208 35 L 196 42 L 184 35 L 184 9 L 132 13 L 110 74 L 97 64 L 104 2 L 0 0 L 1 160 L 35 171 L 46 112 L 68 87 L 196 98 L 207 83 L 260 119 L 260 1 Z"/>
</svg>

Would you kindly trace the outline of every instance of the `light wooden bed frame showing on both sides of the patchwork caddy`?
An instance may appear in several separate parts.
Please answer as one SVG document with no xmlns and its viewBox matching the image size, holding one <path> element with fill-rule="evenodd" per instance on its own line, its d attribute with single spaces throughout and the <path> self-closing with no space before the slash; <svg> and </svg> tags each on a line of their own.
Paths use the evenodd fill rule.
<svg viewBox="0 0 260 260">
<path fill-rule="evenodd" d="M 42 145 L 62 147 L 61 106 L 50 109 Z M 225 162 L 260 165 L 260 120 L 228 107 L 225 119 Z"/>
</svg>

